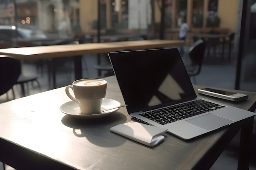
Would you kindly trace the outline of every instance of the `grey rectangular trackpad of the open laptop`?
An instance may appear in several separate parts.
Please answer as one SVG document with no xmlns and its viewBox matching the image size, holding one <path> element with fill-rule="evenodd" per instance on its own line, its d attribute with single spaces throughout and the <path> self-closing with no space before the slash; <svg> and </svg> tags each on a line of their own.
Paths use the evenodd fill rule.
<svg viewBox="0 0 256 170">
<path fill-rule="evenodd" d="M 228 125 L 234 121 L 226 119 L 224 117 L 220 117 L 217 115 L 213 115 L 211 113 L 207 115 L 202 115 L 200 117 L 196 117 L 193 119 L 186 120 L 187 122 L 199 126 L 200 128 L 206 129 L 206 130 L 213 130 L 216 128 L 220 128 L 222 126 Z"/>
</svg>

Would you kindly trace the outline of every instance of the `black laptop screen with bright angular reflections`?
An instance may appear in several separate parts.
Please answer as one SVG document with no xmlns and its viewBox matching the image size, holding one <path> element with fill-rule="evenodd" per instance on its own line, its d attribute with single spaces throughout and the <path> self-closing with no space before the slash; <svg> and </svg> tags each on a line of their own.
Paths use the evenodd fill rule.
<svg viewBox="0 0 256 170">
<path fill-rule="evenodd" d="M 177 49 L 109 53 L 128 113 L 196 98 Z"/>
</svg>

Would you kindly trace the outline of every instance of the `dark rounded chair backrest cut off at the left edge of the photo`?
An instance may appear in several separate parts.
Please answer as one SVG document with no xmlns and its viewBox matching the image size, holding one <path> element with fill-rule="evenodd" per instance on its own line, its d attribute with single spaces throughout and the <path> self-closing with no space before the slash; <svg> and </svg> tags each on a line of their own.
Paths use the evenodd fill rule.
<svg viewBox="0 0 256 170">
<path fill-rule="evenodd" d="M 21 64 L 19 60 L 6 55 L 0 56 L 0 95 L 12 88 L 20 73 Z"/>
</svg>

